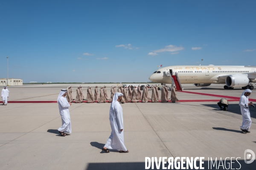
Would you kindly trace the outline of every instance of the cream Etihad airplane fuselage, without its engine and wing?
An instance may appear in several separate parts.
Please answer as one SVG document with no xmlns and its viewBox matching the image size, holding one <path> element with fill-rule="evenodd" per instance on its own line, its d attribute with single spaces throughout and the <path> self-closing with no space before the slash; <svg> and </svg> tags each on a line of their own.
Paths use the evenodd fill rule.
<svg viewBox="0 0 256 170">
<path fill-rule="evenodd" d="M 172 81 L 166 72 L 171 70 L 173 75 L 177 72 L 181 84 L 225 84 L 225 79 L 219 79 L 220 76 L 243 74 L 256 71 L 254 66 L 224 66 L 224 65 L 175 65 L 160 68 L 155 71 L 149 80 L 157 83 L 172 84 Z M 251 83 L 256 82 L 253 79 Z"/>
</svg>

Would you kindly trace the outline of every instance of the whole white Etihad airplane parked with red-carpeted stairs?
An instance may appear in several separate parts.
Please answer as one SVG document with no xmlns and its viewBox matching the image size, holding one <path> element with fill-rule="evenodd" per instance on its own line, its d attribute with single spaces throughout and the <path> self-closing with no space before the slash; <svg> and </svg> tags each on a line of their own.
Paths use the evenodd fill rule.
<svg viewBox="0 0 256 170">
<path fill-rule="evenodd" d="M 256 82 L 256 66 L 228 65 L 174 65 L 155 71 L 149 80 L 152 82 L 172 84 L 171 75 L 177 75 L 181 84 L 195 84 L 205 87 L 213 84 L 226 84 L 225 89 L 253 89 Z"/>
</svg>

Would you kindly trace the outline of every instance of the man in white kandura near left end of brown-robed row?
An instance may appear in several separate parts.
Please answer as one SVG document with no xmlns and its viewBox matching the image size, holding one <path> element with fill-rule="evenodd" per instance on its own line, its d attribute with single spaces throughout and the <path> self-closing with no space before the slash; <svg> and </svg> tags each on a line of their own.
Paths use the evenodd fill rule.
<svg viewBox="0 0 256 170">
<path fill-rule="evenodd" d="M 67 136 L 70 135 L 68 133 L 71 133 L 70 113 L 68 110 L 68 107 L 71 106 L 71 103 L 67 102 L 66 95 L 67 90 L 62 89 L 57 99 L 62 120 L 62 126 L 58 128 L 58 131 L 61 134 L 61 136 Z"/>
</svg>

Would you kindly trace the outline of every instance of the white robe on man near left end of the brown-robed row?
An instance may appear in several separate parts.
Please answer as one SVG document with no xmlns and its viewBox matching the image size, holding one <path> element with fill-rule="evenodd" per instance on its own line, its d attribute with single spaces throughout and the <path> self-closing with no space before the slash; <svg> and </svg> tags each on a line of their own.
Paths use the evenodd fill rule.
<svg viewBox="0 0 256 170">
<path fill-rule="evenodd" d="M 58 128 L 60 132 L 68 132 L 71 133 L 71 121 L 70 121 L 70 113 L 68 107 L 70 104 L 67 102 L 67 99 L 63 96 L 58 99 L 58 107 L 61 115 L 62 126 Z"/>
</svg>

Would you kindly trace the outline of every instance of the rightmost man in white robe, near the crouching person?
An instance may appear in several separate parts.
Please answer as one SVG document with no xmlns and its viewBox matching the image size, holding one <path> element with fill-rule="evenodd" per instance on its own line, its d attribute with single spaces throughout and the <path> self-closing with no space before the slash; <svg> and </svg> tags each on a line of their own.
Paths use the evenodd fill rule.
<svg viewBox="0 0 256 170">
<path fill-rule="evenodd" d="M 250 91 L 249 89 L 246 89 L 241 97 L 240 97 L 240 101 L 239 101 L 239 106 L 241 108 L 241 114 L 243 117 L 243 122 L 242 125 L 240 126 L 240 129 L 242 130 L 242 133 L 250 133 L 249 129 L 250 126 L 252 124 L 252 120 L 250 118 L 250 110 L 249 110 L 249 106 L 254 106 L 253 102 L 249 102 L 248 96 L 250 96 L 250 94 L 252 93 L 252 91 Z"/>
</svg>

